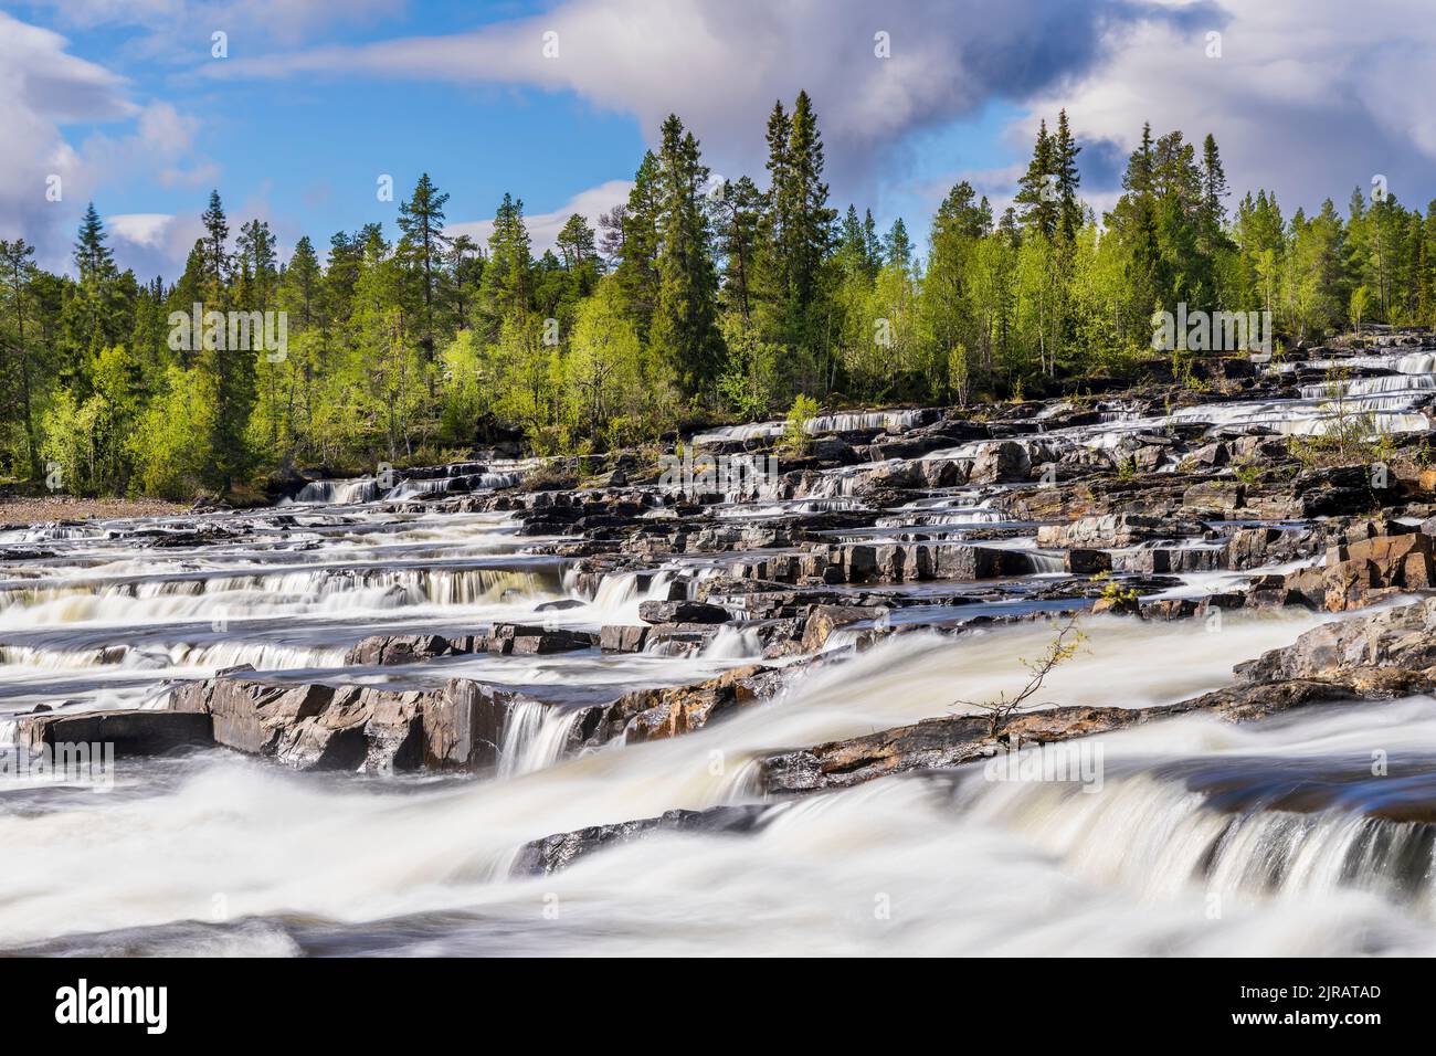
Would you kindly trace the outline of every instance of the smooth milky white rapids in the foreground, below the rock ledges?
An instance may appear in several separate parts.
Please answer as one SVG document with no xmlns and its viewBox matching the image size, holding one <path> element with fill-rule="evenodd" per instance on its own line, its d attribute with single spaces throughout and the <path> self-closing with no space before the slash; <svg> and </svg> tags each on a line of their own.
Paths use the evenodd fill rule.
<svg viewBox="0 0 1436 1056">
<path fill-rule="evenodd" d="M 1206 634 L 1093 621 L 1091 657 L 1060 670 L 1051 694 L 1127 705 L 1183 697 L 1223 680 L 1232 635 L 1277 644 L 1308 622 L 1229 622 Z M 40 818 L 6 813 L 0 842 L 27 853 L 7 865 L 0 942 L 213 921 L 221 905 L 225 920 L 251 921 L 225 941 L 266 953 L 297 951 L 316 928 L 349 935 L 353 948 L 452 953 L 493 950 L 500 934 L 518 948 L 570 953 L 1436 948 L 1427 888 L 1396 898 L 1371 875 L 1344 876 L 1343 863 L 1366 853 L 1360 815 L 1221 812 L 1162 770 L 1173 760 L 1218 776 L 1252 757 L 1288 770 L 1313 757 L 1364 761 L 1373 746 L 1393 760 L 1432 753 L 1436 704 L 1425 698 L 1277 727 L 1193 718 L 1103 737 L 1107 776 L 1094 795 L 987 782 L 979 769 L 956 793 L 876 782 L 778 806 L 752 836 L 655 836 L 553 876 L 495 876 L 514 845 L 543 832 L 742 800 L 745 760 L 763 749 L 941 714 L 958 693 L 1011 685 L 1015 657 L 1037 641 L 1031 628 L 892 639 L 711 730 L 567 761 L 554 761 L 561 718 L 544 728 L 536 714 L 521 724 L 533 730 L 516 733 L 530 751 L 488 783 L 376 795 L 214 754 L 188 761 L 162 793 L 118 789 Z M 1274 856 L 1284 861 L 1275 885 Z M 544 924 L 554 904 L 557 922 Z M 419 948 L 408 945 L 418 925 L 388 924 L 441 911 L 461 917 Z M 330 924 L 299 927 L 293 914 Z"/>
</svg>

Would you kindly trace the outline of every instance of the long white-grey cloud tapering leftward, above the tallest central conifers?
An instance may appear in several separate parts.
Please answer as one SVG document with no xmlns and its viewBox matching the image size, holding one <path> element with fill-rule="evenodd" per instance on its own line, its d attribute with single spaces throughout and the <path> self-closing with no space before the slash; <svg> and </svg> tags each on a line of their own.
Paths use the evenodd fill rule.
<svg viewBox="0 0 1436 1056">
<path fill-rule="evenodd" d="M 1206 9 L 1203 3 L 1199 7 Z M 906 164 L 915 129 L 971 115 L 994 96 L 1024 99 L 1086 73 L 1117 29 L 1173 16 L 1142 0 L 566 0 L 533 17 L 445 36 L 237 56 L 202 63 L 214 79 L 342 76 L 526 85 L 572 91 L 633 114 L 655 136 L 676 112 L 728 175 L 761 175 L 774 99 L 813 96 L 829 172 L 847 197 Z M 546 33 L 557 56 L 547 57 Z M 876 55 L 886 33 L 890 57 Z"/>
</svg>

